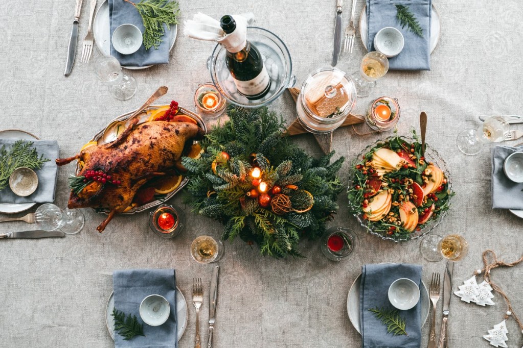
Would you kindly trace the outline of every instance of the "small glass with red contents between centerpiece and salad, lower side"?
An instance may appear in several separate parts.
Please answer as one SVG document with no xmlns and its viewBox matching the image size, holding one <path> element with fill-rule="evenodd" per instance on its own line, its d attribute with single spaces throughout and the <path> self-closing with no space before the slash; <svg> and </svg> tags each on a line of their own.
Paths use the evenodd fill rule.
<svg viewBox="0 0 523 348">
<path fill-rule="evenodd" d="M 332 261 L 352 260 L 358 248 L 358 235 L 346 227 L 331 227 L 322 237 L 323 254 Z"/>
</svg>

